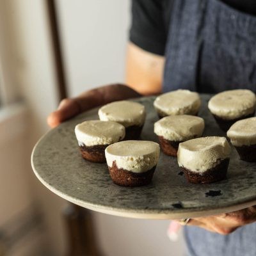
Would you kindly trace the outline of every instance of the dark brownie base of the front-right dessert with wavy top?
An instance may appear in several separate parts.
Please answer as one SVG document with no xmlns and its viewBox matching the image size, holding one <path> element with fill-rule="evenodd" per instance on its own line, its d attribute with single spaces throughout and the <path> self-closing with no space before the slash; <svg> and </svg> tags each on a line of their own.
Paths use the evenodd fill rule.
<svg viewBox="0 0 256 256">
<path fill-rule="evenodd" d="M 220 181 L 227 178 L 229 158 L 223 159 L 220 164 L 205 171 L 202 175 L 182 167 L 186 180 L 190 183 L 203 184 Z"/>
</svg>

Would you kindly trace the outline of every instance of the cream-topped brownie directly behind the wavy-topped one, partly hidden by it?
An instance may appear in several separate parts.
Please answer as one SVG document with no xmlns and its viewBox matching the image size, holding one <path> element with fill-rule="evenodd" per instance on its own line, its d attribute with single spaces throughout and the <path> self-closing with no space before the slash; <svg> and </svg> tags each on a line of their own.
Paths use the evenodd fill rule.
<svg viewBox="0 0 256 256">
<path fill-rule="evenodd" d="M 204 119 L 198 116 L 166 116 L 154 124 L 164 154 L 177 156 L 179 143 L 201 137 Z"/>
</svg>

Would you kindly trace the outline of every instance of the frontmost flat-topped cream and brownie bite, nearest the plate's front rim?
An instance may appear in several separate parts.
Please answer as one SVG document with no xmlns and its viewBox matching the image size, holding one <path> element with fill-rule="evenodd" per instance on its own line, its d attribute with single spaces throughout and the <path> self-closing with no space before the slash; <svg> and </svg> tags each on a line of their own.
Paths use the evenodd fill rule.
<svg viewBox="0 0 256 256">
<path fill-rule="evenodd" d="M 111 179 L 120 186 L 149 184 L 159 153 L 159 145 L 153 141 L 127 140 L 110 145 L 105 154 Z"/>
</svg>

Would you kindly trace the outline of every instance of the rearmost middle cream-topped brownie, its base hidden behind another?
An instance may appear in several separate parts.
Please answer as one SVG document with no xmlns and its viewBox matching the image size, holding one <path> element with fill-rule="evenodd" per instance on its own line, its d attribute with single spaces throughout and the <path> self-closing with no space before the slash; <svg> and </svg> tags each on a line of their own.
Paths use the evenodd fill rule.
<svg viewBox="0 0 256 256">
<path fill-rule="evenodd" d="M 170 115 L 197 115 L 200 106 L 199 94 L 189 90 L 164 93 L 154 101 L 159 118 Z"/>
</svg>

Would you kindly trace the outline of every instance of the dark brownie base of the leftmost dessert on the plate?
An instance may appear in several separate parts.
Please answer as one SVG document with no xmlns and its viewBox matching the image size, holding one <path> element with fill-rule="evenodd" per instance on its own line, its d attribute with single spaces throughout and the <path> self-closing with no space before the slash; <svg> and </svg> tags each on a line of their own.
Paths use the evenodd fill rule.
<svg viewBox="0 0 256 256">
<path fill-rule="evenodd" d="M 106 163 L 105 149 L 109 145 L 79 146 L 84 159 L 93 163 Z"/>
</svg>

